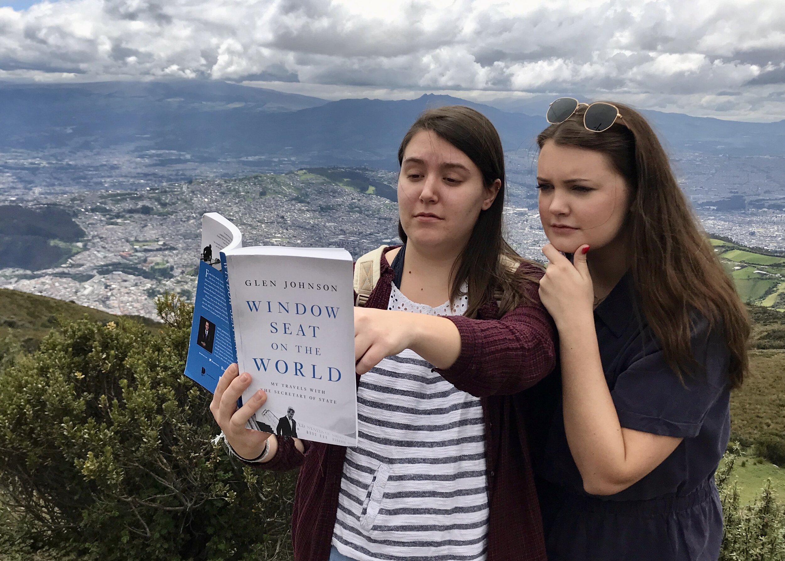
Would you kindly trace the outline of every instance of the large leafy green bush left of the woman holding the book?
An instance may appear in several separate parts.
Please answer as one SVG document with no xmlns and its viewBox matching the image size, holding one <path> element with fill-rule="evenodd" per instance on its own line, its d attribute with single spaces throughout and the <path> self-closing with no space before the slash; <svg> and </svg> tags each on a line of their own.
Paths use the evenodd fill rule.
<svg viewBox="0 0 785 561">
<path fill-rule="evenodd" d="M 210 394 L 183 376 L 192 306 L 166 327 L 87 319 L 0 357 L 6 551 L 79 559 L 290 559 L 294 476 L 225 452 Z M 13 356 L 12 356 L 13 355 Z"/>
</svg>

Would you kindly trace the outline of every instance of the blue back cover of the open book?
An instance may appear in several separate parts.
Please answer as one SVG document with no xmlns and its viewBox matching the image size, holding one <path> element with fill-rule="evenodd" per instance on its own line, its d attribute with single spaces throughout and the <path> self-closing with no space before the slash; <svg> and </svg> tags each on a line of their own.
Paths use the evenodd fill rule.
<svg viewBox="0 0 785 561">
<path fill-rule="evenodd" d="M 236 361 L 225 273 L 200 261 L 185 375 L 215 393 L 218 378 Z"/>
</svg>

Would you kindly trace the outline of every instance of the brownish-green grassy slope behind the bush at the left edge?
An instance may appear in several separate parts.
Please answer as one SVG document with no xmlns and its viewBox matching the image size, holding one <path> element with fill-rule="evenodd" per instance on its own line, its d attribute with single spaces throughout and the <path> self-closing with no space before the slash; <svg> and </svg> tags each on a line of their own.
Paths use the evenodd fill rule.
<svg viewBox="0 0 785 561">
<path fill-rule="evenodd" d="M 85 315 L 103 323 L 131 317 L 152 328 L 159 325 L 147 317 L 115 316 L 73 302 L 0 288 L 0 339 L 13 335 L 28 349 L 35 347 L 52 328 L 56 328 L 60 318 L 75 320 Z"/>
</svg>

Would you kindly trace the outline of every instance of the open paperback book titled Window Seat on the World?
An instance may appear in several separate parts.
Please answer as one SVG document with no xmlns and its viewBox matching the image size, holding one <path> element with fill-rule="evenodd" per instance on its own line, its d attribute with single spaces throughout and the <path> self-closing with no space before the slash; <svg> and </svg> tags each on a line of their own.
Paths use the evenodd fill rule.
<svg viewBox="0 0 785 561">
<path fill-rule="evenodd" d="M 202 218 L 186 376 L 214 392 L 237 362 L 267 402 L 249 427 L 355 446 L 352 256 L 338 248 L 242 247 L 232 222 Z"/>
</svg>

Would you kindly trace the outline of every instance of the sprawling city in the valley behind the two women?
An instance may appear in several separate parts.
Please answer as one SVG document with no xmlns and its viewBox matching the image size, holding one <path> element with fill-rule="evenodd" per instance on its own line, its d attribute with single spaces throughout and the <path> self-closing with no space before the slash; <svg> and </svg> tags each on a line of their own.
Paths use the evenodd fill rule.
<svg viewBox="0 0 785 561">
<path fill-rule="evenodd" d="M 769 167 L 782 165 L 780 159 L 761 161 Z M 783 251 L 785 211 L 779 207 L 780 197 L 772 197 L 775 202 L 769 206 L 773 208 L 765 203 L 758 204 L 759 208 L 744 204 L 752 197 L 765 200 L 766 192 L 780 192 L 778 185 L 768 191 L 760 189 L 766 178 L 750 190 L 750 173 L 766 175 L 773 169 L 761 170 L 745 163 L 749 169 L 740 172 L 738 165 L 722 169 L 723 164 L 728 166 L 727 159 L 707 156 L 681 159 L 675 165 L 688 172 L 680 181 L 690 185 L 685 191 L 707 233 L 746 246 Z M 537 213 L 531 157 L 528 153 L 513 154 L 508 157 L 507 167 L 507 238 L 520 255 L 542 260 L 540 248 L 546 239 Z M 722 184 L 710 183 L 711 178 L 720 176 Z M 38 270 L 31 270 L 35 268 L 31 265 L 26 268 L 25 259 L 31 257 L 25 251 L 17 252 L 22 255 L 14 266 L 0 270 L 0 286 L 113 314 L 155 318 L 156 295 L 175 292 L 192 299 L 200 219 L 210 211 L 235 222 L 246 246 L 341 247 L 357 257 L 380 244 L 400 243 L 396 236 L 397 208 L 392 200 L 396 174 L 390 171 L 318 168 L 151 183 L 125 190 L 38 189 L 27 195 L 21 189 L 5 189 L 5 208 L 9 211 L 15 207 L 30 209 L 38 213 L 42 223 L 52 222 L 57 213 L 61 219 L 66 211 L 84 235 L 78 241 L 49 240 L 61 253 L 52 262 L 43 266 L 39 263 L 42 268 Z M 736 196 L 742 197 L 742 208 L 721 208 L 732 205 Z M 13 243 L 9 233 L 5 234 L 5 243 Z"/>
</svg>

